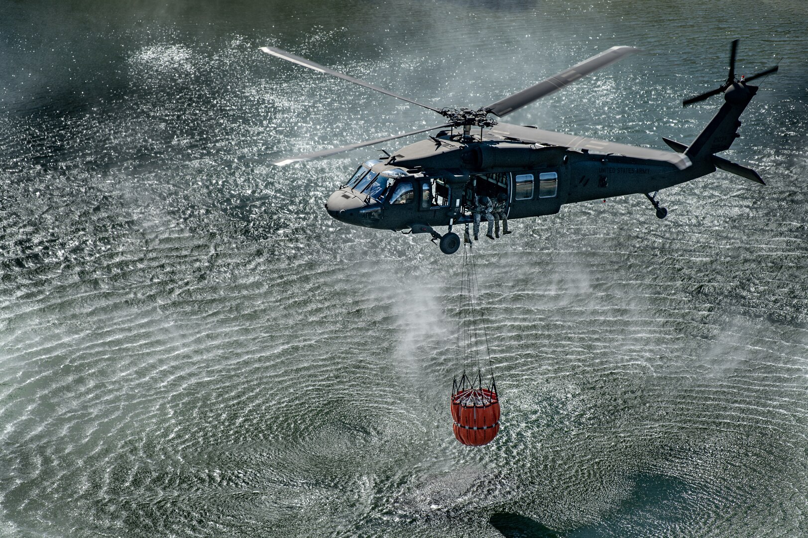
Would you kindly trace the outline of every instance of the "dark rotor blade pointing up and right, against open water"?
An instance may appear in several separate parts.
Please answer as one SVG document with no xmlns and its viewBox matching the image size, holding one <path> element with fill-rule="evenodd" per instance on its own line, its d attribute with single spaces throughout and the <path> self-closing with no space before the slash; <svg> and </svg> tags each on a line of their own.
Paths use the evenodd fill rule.
<svg viewBox="0 0 808 538">
<path fill-rule="evenodd" d="M 611 49 L 604 50 L 604 52 L 600 54 L 595 54 L 595 56 L 579 64 L 575 64 L 566 71 L 555 74 L 550 78 L 545 78 L 541 83 L 537 83 L 519 93 L 509 95 L 494 104 L 489 104 L 485 109 L 492 114 L 503 117 L 506 114 L 510 114 L 524 107 L 526 104 L 531 104 L 533 101 L 553 93 L 553 91 L 560 90 L 562 87 L 574 83 L 587 74 L 603 69 L 615 61 L 620 60 L 622 57 L 639 51 L 640 49 L 633 47 L 612 47 Z"/>
</svg>

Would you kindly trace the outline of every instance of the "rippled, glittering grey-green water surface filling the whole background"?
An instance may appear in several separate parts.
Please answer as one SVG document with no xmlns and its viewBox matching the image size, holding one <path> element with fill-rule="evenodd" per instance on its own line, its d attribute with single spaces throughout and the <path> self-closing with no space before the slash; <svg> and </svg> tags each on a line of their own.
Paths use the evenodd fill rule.
<svg viewBox="0 0 808 538">
<path fill-rule="evenodd" d="M 15 2 L 0 17 L 0 536 L 806 536 L 808 7 Z M 452 435 L 461 256 L 322 204 L 377 149 L 614 45 L 508 116 L 665 149 L 779 61 L 728 159 L 479 244 L 503 405 Z"/>
</svg>

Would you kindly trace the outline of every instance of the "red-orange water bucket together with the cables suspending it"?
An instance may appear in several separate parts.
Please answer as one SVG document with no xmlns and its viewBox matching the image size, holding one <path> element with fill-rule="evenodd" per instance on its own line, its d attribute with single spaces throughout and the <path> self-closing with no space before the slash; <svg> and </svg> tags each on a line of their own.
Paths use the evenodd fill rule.
<svg viewBox="0 0 808 538">
<path fill-rule="evenodd" d="M 485 317 L 478 304 L 477 265 L 472 250 L 472 247 L 463 245 L 459 309 L 461 330 L 457 333 L 451 401 L 455 437 L 465 445 L 480 447 L 490 443 L 499 433 L 499 395 L 488 349 Z M 483 344 L 484 358 L 488 359 L 485 386 L 480 364 L 480 348 Z M 462 366 L 459 381 L 458 366 Z"/>
</svg>

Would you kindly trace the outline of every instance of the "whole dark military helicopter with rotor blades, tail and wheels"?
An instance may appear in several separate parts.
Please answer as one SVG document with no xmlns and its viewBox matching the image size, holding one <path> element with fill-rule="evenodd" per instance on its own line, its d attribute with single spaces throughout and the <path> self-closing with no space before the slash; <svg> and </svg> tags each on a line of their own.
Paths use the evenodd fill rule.
<svg viewBox="0 0 808 538">
<path fill-rule="evenodd" d="M 511 125 L 490 117 L 507 116 L 639 51 L 633 47 L 612 47 L 532 87 L 477 109 L 433 108 L 284 50 L 263 47 L 264 53 L 428 108 L 447 120 L 443 125 L 297 155 L 273 164 L 284 166 L 439 131 L 392 155 L 385 151 L 385 159 L 362 163 L 330 195 L 326 210 L 333 218 L 356 226 L 429 234 L 445 254 L 460 248 L 460 237 L 452 232 L 452 227 L 465 224 L 468 240 L 476 196 L 498 197 L 504 193 L 507 218 L 514 219 L 555 214 L 563 204 L 644 194 L 656 216 L 665 218 L 667 210 L 656 199 L 661 189 L 705 176 L 716 168 L 765 185 L 754 170 L 713 155 L 729 149 L 740 136 L 739 116 L 758 90 L 748 83 L 777 70 L 775 66 L 751 77 L 736 78 L 737 49 L 738 40 L 734 40 L 726 83 L 683 101 L 686 106 L 723 93 L 725 103 L 689 146 L 663 138 L 673 150 L 665 151 L 555 133 L 532 125 Z M 448 227 L 448 231 L 440 234 L 436 227 Z"/>
</svg>

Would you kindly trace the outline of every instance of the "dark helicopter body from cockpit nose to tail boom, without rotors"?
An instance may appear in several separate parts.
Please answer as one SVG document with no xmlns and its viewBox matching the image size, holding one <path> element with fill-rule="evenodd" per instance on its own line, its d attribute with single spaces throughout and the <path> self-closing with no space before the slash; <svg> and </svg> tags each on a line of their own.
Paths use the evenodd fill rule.
<svg viewBox="0 0 808 538">
<path fill-rule="evenodd" d="M 599 145 L 592 139 L 579 138 L 589 142 L 573 149 L 508 138 L 489 130 L 416 142 L 360 166 L 329 197 L 326 210 L 356 226 L 419 233 L 471 222 L 475 194 L 505 193 L 509 219 L 538 217 L 558 213 L 563 204 L 653 193 L 715 171 L 709 161 L 694 165 L 671 152 L 642 159 L 583 147 Z M 609 150 L 609 144 L 600 146 Z M 625 147 L 633 146 L 621 148 L 628 153 Z"/>
</svg>

